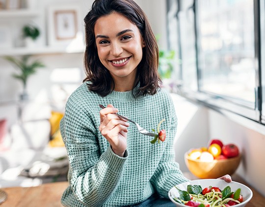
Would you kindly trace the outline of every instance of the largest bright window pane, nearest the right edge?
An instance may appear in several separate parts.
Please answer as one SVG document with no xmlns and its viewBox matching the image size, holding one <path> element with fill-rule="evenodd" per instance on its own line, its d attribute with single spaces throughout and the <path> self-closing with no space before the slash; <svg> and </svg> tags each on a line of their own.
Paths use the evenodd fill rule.
<svg viewBox="0 0 265 207">
<path fill-rule="evenodd" d="M 199 90 L 255 103 L 253 0 L 198 0 Z"/>
</svg>

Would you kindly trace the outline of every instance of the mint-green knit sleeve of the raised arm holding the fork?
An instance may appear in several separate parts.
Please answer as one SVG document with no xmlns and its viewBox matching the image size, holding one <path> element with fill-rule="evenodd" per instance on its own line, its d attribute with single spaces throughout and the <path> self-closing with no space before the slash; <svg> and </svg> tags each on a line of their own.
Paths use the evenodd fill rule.
<svg viewBox="0 0 265 207">
<path fill-rule="evenodd" d="M 68 153 L 71 189 L 79 202 L 97 207 L 117 186 L 128 154 L 117 156 L 107 142 L 106 151 L 100 152 L 97 136 L 101 135 L 84 108 L 68 100 L 60 130 Z"/>
</svg>

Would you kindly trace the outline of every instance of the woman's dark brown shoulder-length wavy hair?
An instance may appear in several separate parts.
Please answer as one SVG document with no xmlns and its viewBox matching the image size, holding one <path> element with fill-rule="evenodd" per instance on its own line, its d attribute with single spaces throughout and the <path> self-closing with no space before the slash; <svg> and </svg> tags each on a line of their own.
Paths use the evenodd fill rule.
<svg viewBox="0 0 265 207">
<path fill-rule="evenodd" d="M 101 96 L 106 96 L 114 90 L 114 81 L 110 72 L 100 62 L 94 33 L 96 21 L 112 12 L 124 15 L 135 24 L 145 41 L 143 57 L 137 66 L 135 81 L 135 86 L 140 83 L 140 88 L 134 95 L 155 94 L 161 83 L 158 75 L 158 44 L 145 13 L 133 0 L 95 0 L 93 2 L 91 10 L 84 18 L 86 41 L 84 67 L 87 77 L 83 82 L 90 81 L 87 84 L 89 90 Z"/>
</svg>

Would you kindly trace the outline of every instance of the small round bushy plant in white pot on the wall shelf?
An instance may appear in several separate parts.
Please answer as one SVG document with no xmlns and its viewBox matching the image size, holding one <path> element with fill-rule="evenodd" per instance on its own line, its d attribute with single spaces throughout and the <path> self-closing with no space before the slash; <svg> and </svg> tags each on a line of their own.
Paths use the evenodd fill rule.
<svg viewBox="0 0 265 207">
<path fill-rule="evenodd" d="M 36 39 L 40 36 L 39 28 L 33 24 L 23 26 L 22 32 L 27 46 L 33 46 Z"/>
</svg>

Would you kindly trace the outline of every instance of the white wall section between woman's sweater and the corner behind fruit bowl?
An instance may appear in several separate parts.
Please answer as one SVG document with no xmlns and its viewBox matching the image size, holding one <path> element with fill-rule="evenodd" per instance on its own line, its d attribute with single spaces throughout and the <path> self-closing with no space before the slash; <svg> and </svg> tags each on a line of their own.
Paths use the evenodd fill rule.
<svg viewBox="0 0 265 207">
<path fill-rule="evenodd" d="M 209 141 L 207 109 L 188 102 L 177 94 L 172 93 L 171 97 L 178 117 L 174 143 L 175 160 L 180 164 L 180 169 L 183 172 L 188 172 L 184 160 L 185 152 L 191 148 L 207 146 Z"/>
</svg>

